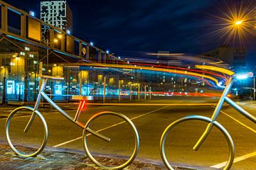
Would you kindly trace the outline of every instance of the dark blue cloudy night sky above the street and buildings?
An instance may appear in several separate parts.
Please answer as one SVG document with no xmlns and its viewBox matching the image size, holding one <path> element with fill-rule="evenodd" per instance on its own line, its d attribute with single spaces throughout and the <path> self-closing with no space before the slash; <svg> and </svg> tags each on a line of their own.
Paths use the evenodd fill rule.
<svg viewBox="0 0 256 170">
<path fill-rule="evenodd" d="M 24 11 L 36 11 L 40 0 L 5 0 Z M 251 6 L 256 7 L 255 1 Z M 213 35 L 215 17 L 234 1 L 220 0 L 68 0 L 73 35 L 121 57 L 144 57 L 165 50 L 199 55 L 223 45 Z M 244 40 L 247 66 L 256 65 L 256 36 Z M 232 42 L 230 46 L 234 45 Z"/>
</svg>

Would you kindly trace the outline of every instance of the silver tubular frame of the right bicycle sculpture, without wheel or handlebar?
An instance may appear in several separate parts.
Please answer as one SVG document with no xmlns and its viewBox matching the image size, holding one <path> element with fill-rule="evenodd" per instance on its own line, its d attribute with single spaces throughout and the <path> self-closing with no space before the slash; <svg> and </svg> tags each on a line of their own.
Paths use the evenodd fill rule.
<svg viewBox="0 0 256 170">
<path fill-rule="evenodd" d="M 244 115 L 246 118 L 252 120 L 252 122 L 256 123 L 256 118 L 255 116 L 251 115 L 250 113 L 248 113 L 247 111 L 245 111 L 243 108 L 241 108 L 240 106 L 238 106 L 238 104 L 236 104 L 234 101 L 232 101 L 230 98 L 228 98 L 228 92 L 230 91 L 231 87 L 233 86 L 234 83 L 234 79 L 233 77 L 230 77 L 230 79 L 228 79 L 228 84 L 225 87 L 222 96 L 220 97 L 220 100 L 218 101 L 218 104 L 213 112 L 213 115 L 211 116 L 210 120 L 211 122 L 208 123 L 206 130 L 203 132 L 203 135 L 201 135 L 201 137 L 199 138 L 199 140 L 196 142 L 196 145 L 194 145 L 193 149 L 194 150 L 198 150 L 199 147 L 201 147 L 201 145 L 203 144 L 203 142 L 206 140 L 206 137 L 208 137 L 210 130 L 212 130 L 213 128 L 213 123 L 215 122 L 215 120 L 218 118 L 218 115 L 220 114 L 220 109 L 223 106 L 223 103 L 226 101 L 230 106 L 232 106 L 233 108 L 235 108 L 236 111 L 238 111 L 239 113 L 241 113 L 242 115 Z M 232 146 L 234 147 L 234 146 Z"/>
</svg>

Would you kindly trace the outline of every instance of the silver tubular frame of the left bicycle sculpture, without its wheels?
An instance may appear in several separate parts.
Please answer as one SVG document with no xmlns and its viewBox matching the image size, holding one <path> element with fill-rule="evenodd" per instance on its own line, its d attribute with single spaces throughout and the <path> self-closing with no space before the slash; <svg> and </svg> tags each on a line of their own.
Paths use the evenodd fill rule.
<svg viewBox="0 0 256 170">
<path fill-rule="evenodd" d="M 33 120 L 36 116 L 36 111 L 38 111 L 38 107 L 40 105 L 41 99 L 44 98 L 46 99 L 46 101 L 48 101 L 48 103 L 50 103 L 51 106 L 53 106 L 53 108 L 55 108 L 57 111 L 59 111 L 61 114 L 63 114 L 65 116 L 65 118 L 68 118 L 68 120 L 70 120 L 71 122 L 75 123 L 75 125 L 78 125 L 80 128 L 84 129 L 85 125 L 80 123 L 78 121 L 78 118 L 80 116 L 80 113 L 82 111 L 82 106 L 85 104 L 85 101 L 80 102 L 80 105 L 78 106 L 78 111 L 75 114 L 75 118 L 72 118 L 68 113 L 66 113 L 65 111 L 63 111 L 62 108 L 60 108 L 56 103 L 54 103 L 54 101 L 52 101 L 47 94 L 44 92 L 44 89 L 46 88 L 46 83 L 47 83 L 48 79 L 43 79 L 43 84 L 41 86 L 41 89 L 39 91 L 38 94 L 38 98 L 36 99 L 36 104 L 35 107 L 33 108 L 33 113 L 31 115 L 30 120 L 28 121 L 28 124 L 26 125 L 26 128 L 24 130 L 24 132 L 28 132 L 28 129 L 31 127 Z M 105 137 L 103 135 L 101 135 L 100 133 L 96 132 L 95 130 L 92 130 L 90 128 L 86 128 L 86 130 L 88 132 L 91 132 L 93 135 L 100 137 L 102 140 L 106 140 L 107 142 L 110 141 L 110 139 L 108 137 Z"/>
</svg>

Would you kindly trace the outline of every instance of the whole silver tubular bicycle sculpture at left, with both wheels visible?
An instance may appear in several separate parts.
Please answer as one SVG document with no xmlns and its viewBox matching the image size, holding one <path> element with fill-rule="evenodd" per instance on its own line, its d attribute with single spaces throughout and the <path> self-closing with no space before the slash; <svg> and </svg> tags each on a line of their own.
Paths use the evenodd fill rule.
<svg viewBox="0 0 256 170">
<path fill-rule="evenodd" d="M 70 120 L 71 122 L 75 123 L 75 125 L 78 125 L 80 128 L 83 129 L 82 132 L 82 143 L 85 149 L 85 152 L 87 154 L 87 156 L 90 158 L 90 160 L 96 164 L 97 166 L 100 166 L 102 168 L 105 169 L 123 169 L 124 167 L 128 166 L 129 164 L 132 163 L 132 161 L 134 160 L 134 158 L 137 156 L 137 153 L 139 151 L 139 134 L 137 132 L 137 128 L 135 127 L 134 123 L 132 123 L 132 121 L 127 118 L 125 115 L 121 114 L 121 113 L 114 113 L 114 112 L 110 112 L 110 111 L 103 111 L 100 113 L 97 113 L 95 115 L 93 115 L 85 125 L 83 125 L 82 123 L 80 123 L 78 121 L 79 117 L 80 117 L 80 113 L 82 111 L 82 106 L 85 104 L 85 100 L 90 100 L 90 96 L 73 96 L 73 99 L 77 99 L 80 100 L 80 105 L 78 106 L 78 110 L 75 114 L 75 117 L 72 118 L 68 113 L 66 113 L 65 111 L 63 111 L 56 103 L 54 103 L 44 92 L 45 88 L 46 88 L 46 83 L 48 81 L 48 79 L 53 79 L 53 80 L 63 80 L 63 77 L 50 77 L 50 76 L 40 76 L 41 79 L 43 79 L 43 83 L 41 86 L 41 89 L 39 91 L 38 94 L 38 98 L 36 100 L 36 104 L 34 106 L 34 108 L 31 107 L 26 107 L 26 106 L 22 106 L 19 108 L 16 108 L 14 111 L 12 111 L 9 115 L 9 117 L 6 120 L 6 139 L 7 142 L 9 144 L 9 146 L 11 147 L 11 149 L 18 155 L 22 156 L 22 157 L 36 157 L 37 154 L 39 154 L 44 147 L 46 147 L 46 142 L 48 140 L 48 128 L 47 128 L 47 124 L 46 124 L 46 120 L 43 118 L 43 115 L 41 115 L 41 113 L 38 111 L 38 107 L 40 105 L 41 102 L 41 98 L 44 98 L 46 101 L 48 101 L 48 103 L 50 103 L 51 106 L 53 106 L 53 108 L 57 109 L 58 112 L 60 112 L 61 114 L 63 114 L 65 116 L 65 118 L 68 118 L 68 120 Z M 36 118 L 36 116 L 38 116 L 38 118 L 41 120 L 41 123 L 43 124 L 43 129 L 44 129 L 44 137 L 43 137 L 43 142 L 41 144 L 41 146 L 32 154 L 24 154 L 22 152 L 20 152 L 13 144 L 13 142 L 11 141 L 11 137 L 9 134 L 9 125 L 11 123 L 12 118 L 14 117 L 14 115 L 21 110 L 26 110 L 26 111 L 31 111 L 31 117 L 30 120 L 28 120 L 28 123 L 26 123 L 26 127 L 24 128 L 24 132 L 28 132 L 29 128 L 31 128 L 31 125 L 33 123 L 33 120 Z M 107 142 L 110 142 L 110 138 L 106 137 L 105 135 L 100 134 L 99 132 L 92 130 L 90 128 L 90 125 L 92 124 L 92 120 L 95 120 L 97 118 L 100 118 L 102 115 L 114 115 L 117 116 L 118 118 L 121 118 L 122 120 L 124 120 L 125 123 L 128 123 L 128 125 L 131 127 L 133 134 L 134 134 L 134 149 L 132 152 L 132 155 L 129 157 L 129 159 L 127 160 L 127 162 L 124 162 L 124 164 L 121 164 L 119 166 L 105 166 L 103 164 L 101 164 L 100 162 L 97 162 L 97 160 L 95 159 L 95 157 L 92 156 L 88 145 L 87 145 L 87 134 L 91 133 L 92 135 L 95 135 L 96 137 L 100 137 L 100 139 L 105 140 Z"/>
</svg>

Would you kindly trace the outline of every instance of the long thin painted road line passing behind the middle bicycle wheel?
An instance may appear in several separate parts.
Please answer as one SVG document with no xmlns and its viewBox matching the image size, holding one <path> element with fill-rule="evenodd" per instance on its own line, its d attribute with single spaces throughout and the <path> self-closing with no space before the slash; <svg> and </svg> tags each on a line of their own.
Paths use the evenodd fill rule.
<svg viewBox="0 0 256 170">
<path fill-rule="evenodd" d="M 153 112 L 155 112 L 155 111 L 159 111 L 159 110 L 161 110 L 161 109 L 163 109 L 163 108 L 167 108 L 167 107 L 168 107 L 168 106 L 164 106 L 164 107 L 158 108 L 158 109 L 156 109 L 156 110 L 154 110 L 154 111 L 150 111 L 150 112 L 148 112 L 148 113 L 144 113 L 144 114 L 142 114 L 142 115 L 138 115 L 138 116 L 136 116 L 136 117 L 134 117 L 134 118 L 131 118 L 130 120 L 134 120 L 134 119 L 140 118 L 140 117 L 142 117 L 142 116 L 144 116 L 144 115 L 148 115 L 148 114 L 150 114 L 150 113 L 153 113 Z M 106 127 L 106 128 L 102 128 L 102 129 L 100 129 L 100 130 L 97 130 L 96 132 L 101 132 L 101 131 L 103 131 L 103 130 L 107 130 L 107 129 L 113 128 L 114 126 L 120 125 L 120 124 L 122 124 L 122 123 L 125 123 L 125 121 L 122 121 L 122 122 L 120 122 L 120 123 L 117 123 L 117 124 L 108 126 L 108 127 Z M 89 136 L 89 135 L 91 135 L 91 134 L 89 133 L 89 134 L 87 134 L 86 136 Z M 58 144 L 58 145 L 54 145 L 53 147 L 60 147 L 60 146 L 63 146 L 63 145 L 67 145 L 67 144 L 70 143 L 70 142 L 74 142 L 74 141 L 80 140 L 80 139 L 82 139 L 82 136 L 76 137 L 76 138 L 73 139 L 73 140 L 68 140 L 68 141 L 66 141 L 66 142 L 62 142 L 62 143 L 60 143 L 60 144 Z"/>
</svg>

